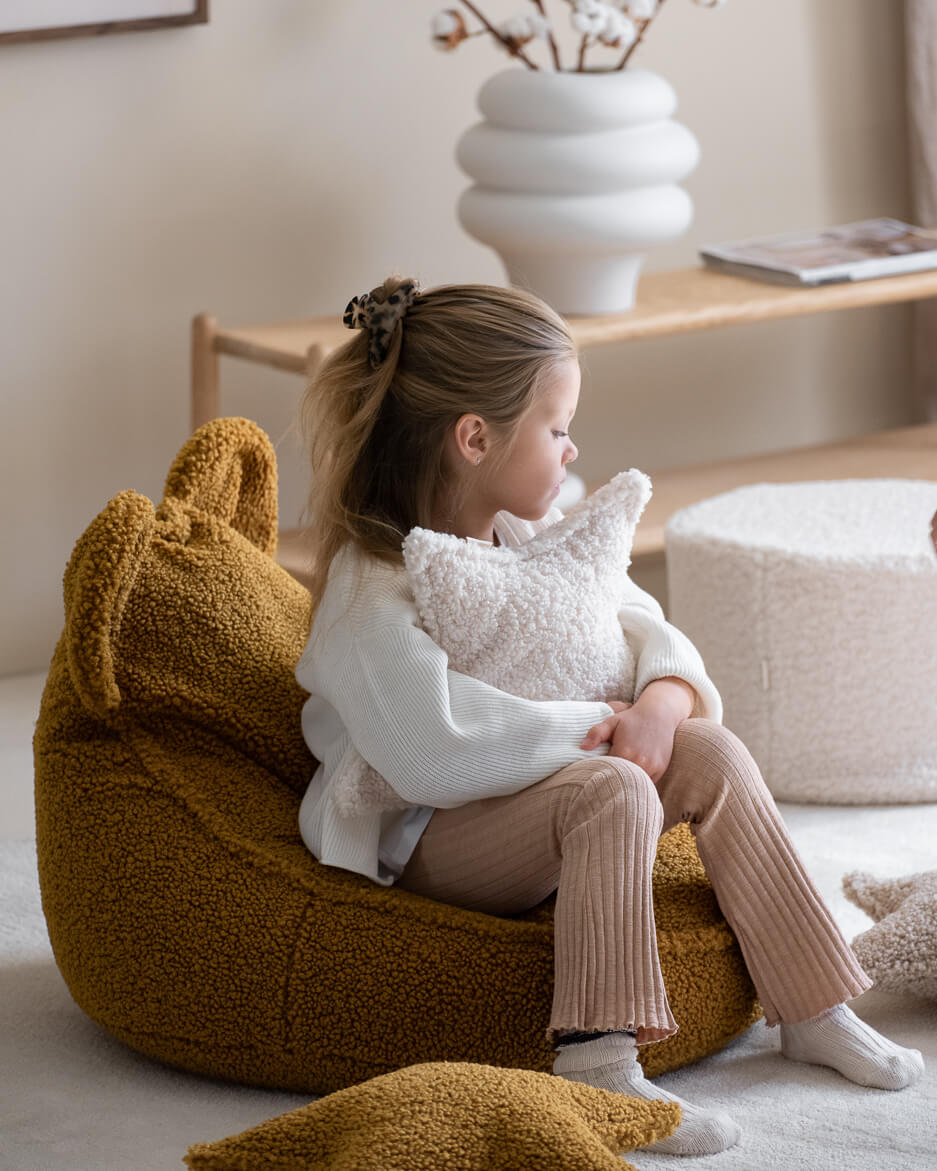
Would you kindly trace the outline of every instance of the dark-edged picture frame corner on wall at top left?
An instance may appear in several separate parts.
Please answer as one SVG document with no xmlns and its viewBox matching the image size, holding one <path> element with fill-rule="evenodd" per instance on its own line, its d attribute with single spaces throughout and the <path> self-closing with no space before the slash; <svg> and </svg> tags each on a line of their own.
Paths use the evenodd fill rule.
<svg viewBox="0 0 937 1171">
<path fill-rule="evenodd" d="M 205 25 L 208 0 L 0 0 L 0 44 Z"/>
</svg>

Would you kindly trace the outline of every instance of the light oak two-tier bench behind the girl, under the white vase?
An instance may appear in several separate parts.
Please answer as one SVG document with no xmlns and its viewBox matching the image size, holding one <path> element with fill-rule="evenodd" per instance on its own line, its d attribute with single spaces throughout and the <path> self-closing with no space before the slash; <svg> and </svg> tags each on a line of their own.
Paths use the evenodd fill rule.
<svg viewBox="0 0 937 1171">
<path fill-rule="evenodd" d="M 568 320 L 577 344 L 584 349 L 933 296 L 937 296 L 937 271 L 816 288 L 788 288 L 705 268 L 688 268 L 642 276 L 638 302 L 628 313 Z M 219 413 L 221 355 L 308 378 L 322 358 L 348 337 L 337 316 L 221 329 L 210 314 L 200 314 L 192 323 L 193 426 Z M 652 475 L 654 498 L 636 534 L 635 569 L 659 561 L 668 516 L 697 500 L 761 480 L 877 477 L 937 479 L 937 424 L 658 472 Z M 289 530 L 281 534 L 280 560 L 290 571 L 302 576 L 305 559 L 300 534 Z"/>
</svg>

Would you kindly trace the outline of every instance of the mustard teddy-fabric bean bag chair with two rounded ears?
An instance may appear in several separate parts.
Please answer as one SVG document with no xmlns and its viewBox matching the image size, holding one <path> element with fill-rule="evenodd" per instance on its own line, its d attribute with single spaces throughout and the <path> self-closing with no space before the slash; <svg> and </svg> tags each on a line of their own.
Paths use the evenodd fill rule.
<svg viewBox="0 0 937 1171">
<path fill-rule="evenodd" d="M 549 1071 L 553 902 L 464 911 L 321 865 L 293 678 L 309 597 L 274 560 L 276 471 L 246 419 L 185 444 L 158 508 L 108 504 L 64 577 L 35 732 L 42 906 L 71 995 L 135 1049 L 329 1094 L 405 1066 Z M 651 1074 L 758 1015 L 686 827 L 655 871 L 679 1032 Z"/>
</svg>

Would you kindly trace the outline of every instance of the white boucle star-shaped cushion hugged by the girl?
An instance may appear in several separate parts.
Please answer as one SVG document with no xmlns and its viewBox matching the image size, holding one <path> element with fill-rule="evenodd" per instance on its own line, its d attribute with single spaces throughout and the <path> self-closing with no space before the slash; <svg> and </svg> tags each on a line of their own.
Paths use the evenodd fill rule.
<svg viewBox="0 0 937 1171">
<path fill-rule="evenodd" d="M 415 528 L 403 543 L 406 571 L 423 629 L 450 667 L 526 699 L 632 699 L 618 609 L 650 495 L 643 472 L 621 472 L 519 546 Z M 356 753 L 334 792 L 349 815 L 408 807 Z"/>
</svg>

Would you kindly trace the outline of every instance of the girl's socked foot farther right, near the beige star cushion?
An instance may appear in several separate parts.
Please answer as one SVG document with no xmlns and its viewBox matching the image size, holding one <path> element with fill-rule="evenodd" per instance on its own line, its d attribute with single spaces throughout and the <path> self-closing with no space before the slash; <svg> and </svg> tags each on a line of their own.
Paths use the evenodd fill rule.
<svg viewBox="0 0 937 1171">
<path fill-rule="evenodd" d="M 903 1049 L 883 1038 L 847 1005 L 834 1005 L 807 1021 L 781 1021 L 780 1029 L 785 1057 L 828 1066 L 860 1086 L 903 1090 L 924 1073 L 917 1049 Z"/>
</svg>

